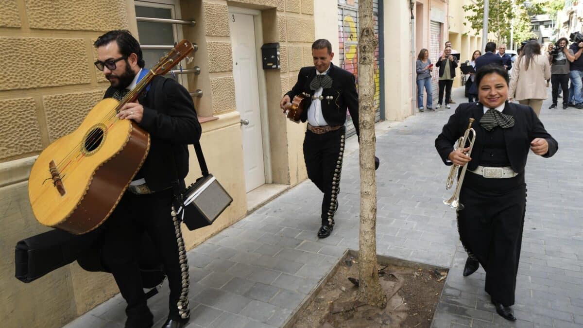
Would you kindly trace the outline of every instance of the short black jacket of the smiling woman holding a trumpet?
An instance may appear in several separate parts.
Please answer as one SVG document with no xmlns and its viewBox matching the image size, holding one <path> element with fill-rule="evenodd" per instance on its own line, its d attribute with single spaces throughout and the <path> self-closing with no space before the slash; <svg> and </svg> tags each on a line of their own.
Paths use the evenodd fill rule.
<svg viewBox="0 0 583 328">
<path fill-rule="evenodd" d="M 523 173 L 526 166 L 526 156 L 531 147 L 531 141 L 535 138 L 544 138 L 549 143 L 549 151 L 543 157 L 553 156 L 559 149 L 557 141 L 545 130 L 532 107 L 506 102 L 504 114 L 514 117 L 514 127 L 504 129 L 506 151 L 512 170 Z M 480 165 L 480 154 L 483 149 L 483 140 L 486 130 L 480 125 L 480 118 L 484 115 L 484 107 L 480 103 L 463 103 L 458 106 L 455 113 L 449 117 L 441 134 L 437 137 L 435 145 L 437 152 L 445 165 L 452 165 L 448 161 L 449 153 L 457 146 L 459 137 L 462 137 L 468 128 L 469 118 L 475 118 L 472 128 L 476 131 L 476 141 L 468 163 L 469 170 L 475 170 Z M 468 144 L 469 145 L 469 144 Z"/>
</svg>

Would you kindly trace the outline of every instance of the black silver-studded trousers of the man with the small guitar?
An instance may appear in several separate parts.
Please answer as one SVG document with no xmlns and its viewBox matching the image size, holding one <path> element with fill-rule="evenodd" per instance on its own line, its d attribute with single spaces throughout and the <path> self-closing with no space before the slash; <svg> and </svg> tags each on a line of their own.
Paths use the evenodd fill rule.
<svg viewBox="0 0 583 328">
<path fill-rule="evenodd" d="M 338 208 L 345 137 L 345 127 L 324 134 L 305 131 L 304 161 L 308 178 L 324 193 L 322 225 L 334 225 L 334 214 Z"/>
</svg>

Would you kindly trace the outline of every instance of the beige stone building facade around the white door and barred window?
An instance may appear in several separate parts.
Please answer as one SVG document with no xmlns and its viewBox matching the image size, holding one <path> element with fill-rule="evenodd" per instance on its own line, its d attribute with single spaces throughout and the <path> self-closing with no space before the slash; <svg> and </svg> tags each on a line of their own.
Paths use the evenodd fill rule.
<svg viewBox="0 0 583 328">
<path fill-rule="evenodd" d="M 191 92 L 203 90 L 203 96 L 194 99 L 199 116 L 218 118 L 202 124 L 202 148 L 210 171 L 234 198 L 212 226 L 195 232 L 184 229 L 190 248 L 247 212 L 229 6 L 261 11 L 264 43 L 280 43 L 282 69 L 265 72 L 262 94 L 268 109 L 273 182 L 291 185 L 307 176 L 301 149 L 305 124 L 287 121 L 280 113 L 279 100 L 296 82 L 299 69 L 311 65 L 315 8 L 312 0 L 181 0 L 180 6 L 182 18 L 197 22 L 195 27 L 181 27 L 184 37 L 198 44 L 189 67 L 202 68 L 200 75 L 187 76 L 188 88 Z M 92 44 L 107 30 L 120 28 L 137 34 L 132 0 L 110 0 L 107 6 L 96 0 L 2 2 L 0 59 L 10 64 L 10 69 L 0 72 L 0 255 L 5 259 L 0 263 L 2 326 L 59 327 L 117 292 L 111 275 L 87 273 L 77 264 L 23 284 L 13 278 L 13 252 L 18 240 L 48 230 L 31 212 L 27 196 L 30 167 L 44 147 L 77 127 L 101 99 L 108 82 L 93 67 Z M 191 148 L 187 182 L 198 176 Z"/>
</svg>

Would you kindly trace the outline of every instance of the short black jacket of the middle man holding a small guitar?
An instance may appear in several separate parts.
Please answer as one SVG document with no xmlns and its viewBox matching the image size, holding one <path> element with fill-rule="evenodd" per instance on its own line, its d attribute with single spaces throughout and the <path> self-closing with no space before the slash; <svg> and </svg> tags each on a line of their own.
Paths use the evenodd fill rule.
<svg viewBox="0 0 583 328">
<path fill-rule="evenodd" d="M 356 134 L 360 135 L 359 130 L 359 95 L 356 92 L 356 83 L 354 75 L 345 69 L 336 67 L 330 63 L 328 76 L 332 78 L 332 86 L 329 89 L 322 90 L 322 96 L 332 96 L 332 100 L 321 100 L 322 115 L 329 125 L 343 125 L 346 123 L 346 109 L 352 116 Z M 314 66 L 303 67 L 297 75 L 296 85 L 286 93 L 293 99 L 294 96 L 302 92 L 308 95 L 314 95 L 315 90 L 310 89 L 310 82 L 316 76 L 316 68 Z M 308 109 L 312 104 L 311 97 L 307 99 L 304 112 L 301 114 L 301 121 L 305 122 L 308 119 Z"/>
</svg>

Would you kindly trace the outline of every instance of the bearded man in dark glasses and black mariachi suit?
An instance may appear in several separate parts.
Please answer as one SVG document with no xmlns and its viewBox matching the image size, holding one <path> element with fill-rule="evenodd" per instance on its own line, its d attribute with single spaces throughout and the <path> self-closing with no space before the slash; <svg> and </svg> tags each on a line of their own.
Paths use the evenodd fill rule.
<svg viewBox="0 0 583 328">
<path fill-rule="evenodd" d="M 94 43 L 95 66 L 111 86 L 104 98 L 118 100 L 148 72 L 138 41 L 127 30 L 103 34 Z M 159 250 L 170 286 L 170 313 L 162 327 L 183 327 L 188 322 L 188 263 L 180 221 L 171 215 L 173 186 L 184 186 L 188 173 L 188 144 L 201 137 L 201 125 L 188 91 L 173 79 L 157 75 L 135 102 L 118 112 L 134 120 L 150 135 L 149 153 L 128 190 L 102 226 L 103 262 L 113 273 L 128 303 L 126 327 L 151 327 L 138 267 L 142 232 Z M 174 222 L 173 222 L 174 219 Z"/>
</svg>

